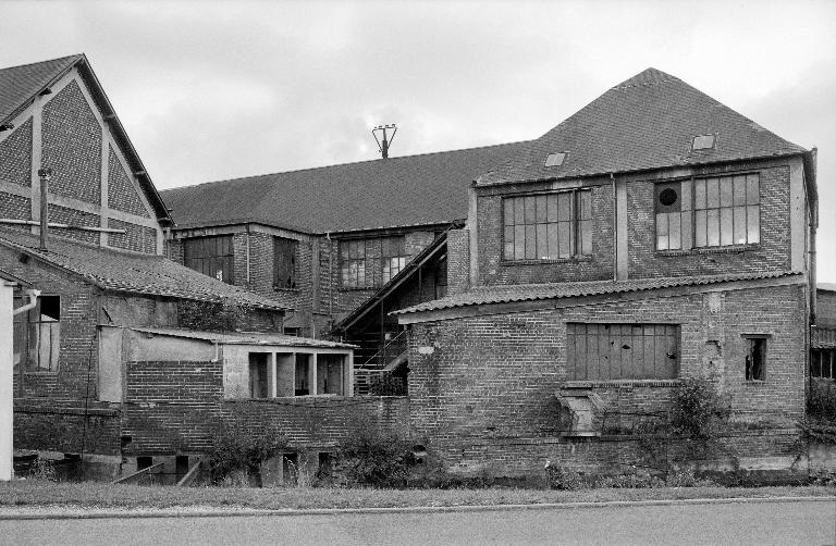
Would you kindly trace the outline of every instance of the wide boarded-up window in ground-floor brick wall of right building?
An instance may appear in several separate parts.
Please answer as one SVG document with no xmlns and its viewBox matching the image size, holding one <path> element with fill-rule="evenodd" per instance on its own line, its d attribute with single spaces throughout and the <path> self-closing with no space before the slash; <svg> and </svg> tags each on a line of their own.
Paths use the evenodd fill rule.
<svg viewBox="0 0 836 546">
<path fill-rule="evenodd" d="M 566 333 L 569 380 L 667 380 L 679 374 L 676 325 L 568 323 Z"/>
</svg>

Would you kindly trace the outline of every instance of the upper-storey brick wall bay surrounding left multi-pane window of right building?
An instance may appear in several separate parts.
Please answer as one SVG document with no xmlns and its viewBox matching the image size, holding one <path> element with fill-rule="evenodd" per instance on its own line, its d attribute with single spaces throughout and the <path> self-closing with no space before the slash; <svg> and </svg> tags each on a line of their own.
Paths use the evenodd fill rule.
<svg viewBox="0 0 836 546">
<path fill-rule="evenodd" d="M 541 262 L 504 261 L 502 197 L 545 189 L 542 185 L 513 186 L 507 189 L 478 189 L 477 234 L 479 239 L 479 284 L 561 283 L 601 281 L 613 277 L 613 190 L 593 186 L 592 256 Z"/>
</svg>

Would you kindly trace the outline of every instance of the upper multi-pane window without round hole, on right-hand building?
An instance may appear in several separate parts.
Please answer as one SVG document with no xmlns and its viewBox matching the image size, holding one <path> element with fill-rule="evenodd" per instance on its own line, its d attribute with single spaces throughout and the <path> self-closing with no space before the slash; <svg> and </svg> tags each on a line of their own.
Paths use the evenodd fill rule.
<svg viewBox="0 0 836 546">
<path fill-rule="evenodd" d="M 592 253 L 592 194 L 560 191 L 503 199 L 505 260 Z"/>
</svg>

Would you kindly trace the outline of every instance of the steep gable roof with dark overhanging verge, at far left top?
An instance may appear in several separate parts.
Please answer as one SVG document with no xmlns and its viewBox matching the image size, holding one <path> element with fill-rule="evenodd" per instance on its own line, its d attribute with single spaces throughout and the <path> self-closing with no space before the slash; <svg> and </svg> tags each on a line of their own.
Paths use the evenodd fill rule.
<svg viewBox="0 0 836 546">
<path fill-rule="evenodd" d="M 138 173 L 136 176 L 148 197 L 148 201 L 155 209 L 157 219 L 162 223 L 170 223 L 171 216 L 160 198 L 160 194 L 157 191 L 153 182 L 151 182 L 143 160 L 139 159 L 134 145 L 122 126 L 122 122 L 116 116 L 113 106 L 110 103 L 104 89 L 101 87 L 84 53 L 0 69 L 0 124 L 11 121 L 28 108 L 40 91 L 50 87 L 74 67 L 78 69 L 78 74 L 90 90 L 90 95 L 99 110 L 106 116 L 112 115 L 108 121 L 109 126 L 121 149 L 125 152 L 131 170 L 134 173 Z"/>
</svg>

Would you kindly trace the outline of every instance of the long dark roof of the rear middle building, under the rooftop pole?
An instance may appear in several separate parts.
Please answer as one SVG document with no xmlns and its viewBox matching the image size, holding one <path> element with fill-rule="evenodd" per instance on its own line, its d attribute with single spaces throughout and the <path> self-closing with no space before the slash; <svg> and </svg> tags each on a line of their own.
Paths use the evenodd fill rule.
<svg viewBox="0 0 836 546">
<path fill-rule="evenodd" d="M 162 191 L 177 227 L 257 222 L 325 233 L 467 218 L 467 188 L 526 142 L 249 176 Z"/>
</svg>

